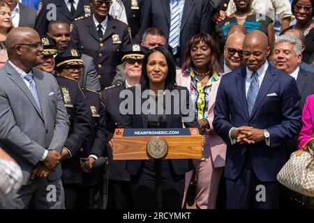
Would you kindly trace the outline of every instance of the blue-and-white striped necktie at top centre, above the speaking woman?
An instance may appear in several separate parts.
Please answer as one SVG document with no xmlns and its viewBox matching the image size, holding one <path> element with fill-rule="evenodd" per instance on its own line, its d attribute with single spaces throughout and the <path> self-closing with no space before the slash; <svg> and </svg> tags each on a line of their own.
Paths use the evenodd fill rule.
<svg viewBox="0 0 314 223">
<path fill-rule="evenodd" d="M 177 0 L 174 0 L 171 8 L 170 17 L 170 33 L 169 45 L 172 47 L 172 54 L 177 54 L 177 47 L 179 46 L 179 33 L 180 33 L 180 8 Z"/>
</svg>

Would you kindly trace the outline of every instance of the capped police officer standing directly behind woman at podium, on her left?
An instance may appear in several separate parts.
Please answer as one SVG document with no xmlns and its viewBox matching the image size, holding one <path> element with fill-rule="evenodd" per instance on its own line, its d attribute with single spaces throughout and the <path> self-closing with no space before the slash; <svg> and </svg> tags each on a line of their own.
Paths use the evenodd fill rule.
<svg viewBox="0 0 314 223">
<path fill-rule="evenodd" d="M 124 84 L 117 84 L 107 87 L 101 93 L 105 105 L 105 122 L 107 129 L 107 157 L 109 160 L 109 185 L 108 185 L 108 209 L 126 209 L 132 208 L 132 198 L 130 194 L 130 176 L 126 172 L 125 160 L 112 160 L 112 137 L 115 128 L 120 122 L 119 106 L 123 99 L 119 94 L 130 86 L 135 86 L 140 82 L 142 72 L 142 60 L 145 47 L 140 45 L 126 45 L 121 49 L 121 62 L 126 73 Z"/>
</svg>

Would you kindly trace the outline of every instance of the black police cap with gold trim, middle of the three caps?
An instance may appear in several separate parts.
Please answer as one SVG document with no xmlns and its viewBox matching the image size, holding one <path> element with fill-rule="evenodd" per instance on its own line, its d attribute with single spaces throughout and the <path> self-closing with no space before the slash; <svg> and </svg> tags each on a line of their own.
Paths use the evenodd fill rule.
<svg viewBox="0 0 314 223">
<path fill-rule="evenodd" d="M 66 49 L 60 52 L 54 59 L 56 60 L 56 67 L 69 66 L 69 65 L 82 65 L 80 52 L 77 49 Z"/>
</svg>

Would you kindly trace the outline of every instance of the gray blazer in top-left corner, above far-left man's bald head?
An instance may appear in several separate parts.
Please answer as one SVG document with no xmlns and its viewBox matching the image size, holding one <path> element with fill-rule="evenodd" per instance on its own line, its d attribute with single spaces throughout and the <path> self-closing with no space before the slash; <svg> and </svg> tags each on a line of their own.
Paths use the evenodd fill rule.
<svg viewBox="0 0 314 223">
<path fill-rule="evenodd" d="M 18 4 L 20 7 L 19 27 L 29 27 L 33 29 L 35 27 L 35 20 L 37 15 L 36 10 L 29 6 L 25 6 L 20 2 Z"/>
</svg>

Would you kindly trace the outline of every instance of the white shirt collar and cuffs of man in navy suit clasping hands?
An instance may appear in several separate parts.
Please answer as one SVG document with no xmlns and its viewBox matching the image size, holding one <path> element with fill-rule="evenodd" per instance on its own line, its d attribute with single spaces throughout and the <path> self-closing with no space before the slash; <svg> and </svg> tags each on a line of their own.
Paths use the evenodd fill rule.
<svg viewBox="0 0 314 223">
<path fill-rule="evenodd" d="M 264 65 L 262 67 L 260 67 L 260 69 L 257 70 L 257 75 L 258 75 L 258 81 L 259 81 L 259 87 L 262 85 L 262 81 L 264 79 L 264 76 L 266 74 L 267 68 L 268 68 L 269 64 L 267 61 L 265 61 Z M 253 78 L 251 78 L 253 75 L 253 71 L 248 70 L 248 68 L 246 68 L 246 98 L 248 97 L 248 89 L 250 88 L 251 82 L 253 80 Z M 232 130 L 234 130 L 235 128 L 231 128 L 229 130 L 229 137 L 230 137 L 230 141 L 231 144 L 235 144 L 236 143 L 236 139 L 233 139 L 231 137 L 231 132 Z M 267 146 L 270 145 L 270 137 L 265 139 Z"/>
</svg>

